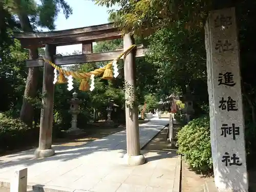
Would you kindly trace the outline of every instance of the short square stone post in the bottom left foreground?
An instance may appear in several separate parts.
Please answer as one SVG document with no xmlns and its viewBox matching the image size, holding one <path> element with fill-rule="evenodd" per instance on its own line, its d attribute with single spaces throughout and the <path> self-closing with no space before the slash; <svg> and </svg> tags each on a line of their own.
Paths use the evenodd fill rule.
<svg viewBox="0 0 256 192">
<path fill-rule="evenodd" d="M 27 192 L 28 168 L 17 170 L 11 181 L 10 192 Z"/>
</svg>

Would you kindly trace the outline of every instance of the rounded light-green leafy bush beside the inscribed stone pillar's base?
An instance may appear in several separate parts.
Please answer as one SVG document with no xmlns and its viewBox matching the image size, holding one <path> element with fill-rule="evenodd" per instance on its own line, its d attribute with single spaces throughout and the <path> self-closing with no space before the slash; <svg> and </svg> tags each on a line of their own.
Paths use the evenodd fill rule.
<svg viewBox="0 0 256 192">
<path fill-rule="evenodd" d="M 212 171 L 209 117 L 190 121 L 178 133 L 178 153 L 186 163 L 201 173 Z"/>
</svg>

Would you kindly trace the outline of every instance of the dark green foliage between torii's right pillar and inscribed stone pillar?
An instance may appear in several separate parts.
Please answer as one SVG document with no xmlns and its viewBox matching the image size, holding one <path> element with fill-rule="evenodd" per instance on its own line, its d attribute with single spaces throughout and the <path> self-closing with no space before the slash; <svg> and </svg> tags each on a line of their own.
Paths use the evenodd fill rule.
<svg viewBox="0 0 256 192">
<path fill-rule="evenodd" d="M 186 85 L 195 84 L 195 81 L 207 82 L 203 38 L 203 30 L 188 31 L 179 23 L 174 28 L 158 30 L 149 38 L 146 60 L 154 63 L 158 69 L 157 80 L 161 95 L 170 95 L 177 88 L 185 92 Z M 207 87 L 198 90 L 202 91 L 207 91 Z"/>
</svg>

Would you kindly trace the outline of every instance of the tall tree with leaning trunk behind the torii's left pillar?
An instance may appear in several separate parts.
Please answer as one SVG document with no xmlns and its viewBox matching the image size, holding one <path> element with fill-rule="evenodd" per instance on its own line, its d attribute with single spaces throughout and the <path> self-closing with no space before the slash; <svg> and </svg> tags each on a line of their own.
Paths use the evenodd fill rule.
<svg viewBox="0 0 256 192">
<path fill-rule="evenodd" d="M 15 28 L 15 31 L 24 32 L 39 31 L 41 28 L 53 30 L 55 29 L 54 20 L 61 9 L 66 18 L 72 13 L 71 7 L 64 0 L 42 0 L 41 4 L 37 4 L 35 0 L 3 0 L 1 6 L 13 17 L 18 18 L 20 25 Z M 28 58 L 38 58 L 38 49 L 29 49 Z M 34 115 L 31 101 L 35 100 L 42 82 L 37 78 L 39 74 L 39 68 L 29 68 L 22 109 L 20 109 L 20 118 L 29 126 L 32 126 Z"/>
</svg>

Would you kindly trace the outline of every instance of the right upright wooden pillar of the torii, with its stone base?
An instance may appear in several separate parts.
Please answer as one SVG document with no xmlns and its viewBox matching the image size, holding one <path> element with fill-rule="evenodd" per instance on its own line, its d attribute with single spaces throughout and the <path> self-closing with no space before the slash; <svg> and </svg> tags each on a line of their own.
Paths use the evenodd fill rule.
<svg viewBox="0 0 256 192">
<path fill-rule="evenodd" d="M 124 34 L 123 50 L 134 45 L 134 38 L 130 34 Z M 145 158 L 140 154 L 140 138 L 138 123 L 138 105 L 136 104 L 136 75 L 135 54 L 132 50 L 124 57 L 124 82 L 125 82 L 125 121 L 126 121 L 126 148 L 124 155 L 126 164 L 141 165 Z"/>
</svg>

